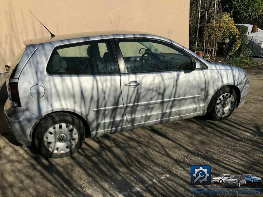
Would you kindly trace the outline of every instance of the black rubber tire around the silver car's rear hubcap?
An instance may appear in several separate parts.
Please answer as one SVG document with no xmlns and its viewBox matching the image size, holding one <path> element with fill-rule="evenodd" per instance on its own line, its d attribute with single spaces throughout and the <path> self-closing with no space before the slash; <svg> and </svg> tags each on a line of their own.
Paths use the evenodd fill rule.
<svg viewBox="0 0 263 197">
<path fill-rule="evenodd" d="M 51 128 L 53 125 L 60 123 L 72 125 L 77 130 L 78 140 L 75 146 L 70 151 L 58 154 L 51 152 L 48 148 L 46 148 L 44 144 L 44 136 L 46 134 L 46 131 L 49 130 L 49 128 Z M 39 151 L 41 155 L 49 158 L 63 158 L 74 154 L 77 150 L 80 149 L 84 140 L 85 128 L 82 121 L 80 121 L 79 118 L 72 114 L 62 112 L 53 113 L 45 116 L 38 123 L 32 135 L 32 143 L 34 143 L 35 147 L 37 148 L 37 151 Z"/>
</svg>

